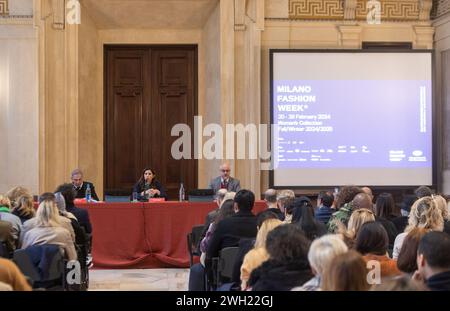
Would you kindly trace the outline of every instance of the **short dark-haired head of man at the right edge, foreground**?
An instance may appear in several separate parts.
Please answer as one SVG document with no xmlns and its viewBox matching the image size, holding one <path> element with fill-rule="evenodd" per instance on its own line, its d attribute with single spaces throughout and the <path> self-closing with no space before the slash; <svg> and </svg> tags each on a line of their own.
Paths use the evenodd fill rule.
<svg viewBox="0 0 450 311">
<path fill-rule="evenodd" d="M 425 279 L 450 271 L 450 235 L 437 231 L 425 234 L 417 250 L 417 267 Z"/>
</svg>

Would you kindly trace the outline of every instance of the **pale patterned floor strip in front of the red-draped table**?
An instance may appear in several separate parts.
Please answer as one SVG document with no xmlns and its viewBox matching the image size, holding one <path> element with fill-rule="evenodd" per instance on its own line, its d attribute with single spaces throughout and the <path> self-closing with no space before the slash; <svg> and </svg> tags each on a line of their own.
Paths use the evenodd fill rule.
<svg viewBox="0 0 450 311">
<path fill-rule="evenodd" d="M 90 270 L 91 291 L 183 291 L 189 269 Z"/>
</svg>

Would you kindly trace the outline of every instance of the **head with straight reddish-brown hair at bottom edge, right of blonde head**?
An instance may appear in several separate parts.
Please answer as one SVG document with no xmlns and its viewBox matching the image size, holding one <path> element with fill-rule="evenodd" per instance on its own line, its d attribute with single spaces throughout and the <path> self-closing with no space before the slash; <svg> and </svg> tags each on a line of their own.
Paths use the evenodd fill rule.
<svg viewBox="0 0 450 311">
<path fill-rule="evenodd" d="M 325 291 L 367 291 L 366 262 L 362 256 L 349 250 L 334 257 L 323 272 L 321 289 Z"/>
</svg>

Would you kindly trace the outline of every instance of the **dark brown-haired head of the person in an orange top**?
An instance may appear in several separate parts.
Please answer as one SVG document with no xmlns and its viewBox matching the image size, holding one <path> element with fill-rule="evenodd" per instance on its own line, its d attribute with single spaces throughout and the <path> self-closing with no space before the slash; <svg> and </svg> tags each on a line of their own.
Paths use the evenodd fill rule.
<svg viewBox="0 0 450 311">
<path fill-rule="evenodd" d="M 362 255 L 386 255 L 388 245 L 388 234 L 379 222 L 366 222 L 356 235 L 355 250 Z"/>
</svg>

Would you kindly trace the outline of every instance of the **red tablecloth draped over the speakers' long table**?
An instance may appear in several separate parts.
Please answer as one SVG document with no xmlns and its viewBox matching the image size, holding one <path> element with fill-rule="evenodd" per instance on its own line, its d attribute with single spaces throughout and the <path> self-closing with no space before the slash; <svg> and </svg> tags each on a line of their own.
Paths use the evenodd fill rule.
<svg viewBox="0 0 450 311">
<path fill-rule="evenodd" d="M 189 267 L 186 236 L 215 203 L 81 204 L 93 227 L 94 267 Z M 254 213 L 266 208 L 255 203 Z"/>
</svg>

